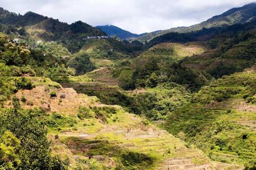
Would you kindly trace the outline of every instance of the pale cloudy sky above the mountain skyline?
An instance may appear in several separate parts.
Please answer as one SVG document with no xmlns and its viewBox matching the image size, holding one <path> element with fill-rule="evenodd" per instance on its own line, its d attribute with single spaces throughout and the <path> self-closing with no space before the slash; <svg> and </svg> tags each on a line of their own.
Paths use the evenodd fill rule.
<svg viewBox="0 0 256 170">
<path fill-rule="evenodd" d="M 11 12 L 36 12 L 71 24 L 112 24 L 137 34 L 190 26 L 256 0 L 1 0 Z"/>
</svg>

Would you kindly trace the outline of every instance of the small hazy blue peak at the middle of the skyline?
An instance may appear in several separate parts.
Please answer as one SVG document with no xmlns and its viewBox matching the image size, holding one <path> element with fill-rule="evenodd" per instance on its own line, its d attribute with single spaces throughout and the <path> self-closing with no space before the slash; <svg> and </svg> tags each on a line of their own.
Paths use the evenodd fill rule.
<svg viewBox="0 0 256 170">
<path fill-rule="evenodd" d="M 126 31 L 122 28 L 119 28 L 114 25 L 104 25 L 104 26 L 96 26 L 96 28 L 101 29 L 101 31 L 106 32 L 109 36 L 117 36 L 121 39 L 127 39 L 127 38 L 137 38 L 139 36 L 145 35 L 145 34 L 133 34 L 129 31 Z"/>
</svg>

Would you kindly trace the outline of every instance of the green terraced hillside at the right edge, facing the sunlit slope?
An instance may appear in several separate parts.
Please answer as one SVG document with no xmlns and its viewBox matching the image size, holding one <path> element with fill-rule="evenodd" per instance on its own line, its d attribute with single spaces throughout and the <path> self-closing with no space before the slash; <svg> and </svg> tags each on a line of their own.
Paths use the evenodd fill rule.
<svg viewBox="0 0 256 170">
<path fill-rule="evenodd" d="M 201 148 L 212 160 L 254 164 L 255 78 L 253 67 L 205 86 L 190 105 L 169 117 L 165 127 Z"/>
</svg>

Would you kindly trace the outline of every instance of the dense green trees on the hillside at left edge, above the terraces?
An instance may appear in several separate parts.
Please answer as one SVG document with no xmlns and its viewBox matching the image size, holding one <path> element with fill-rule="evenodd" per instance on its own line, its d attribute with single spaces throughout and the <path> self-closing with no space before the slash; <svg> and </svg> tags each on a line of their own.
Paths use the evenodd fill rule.
<svg viewBox="0 0 256 170">
<path fill-rule="evenodd" d="M 66 59 L 56 57 L 58 52 L 60 54 L 65 53 L 63 49 L 55 49 L 57 52 L 49 49 L 48 46 L 32 49 L 27 48 L 27 46 L 23 43 L 12 42 L 12 39 L 6 35 L 0 35 L 0 69 L 3 71 L 1 74 L 6 76 L 35 76 L 37 74 L 51 78 L 74 75 L 74 71 L 66 65 Z"/>
</svg>

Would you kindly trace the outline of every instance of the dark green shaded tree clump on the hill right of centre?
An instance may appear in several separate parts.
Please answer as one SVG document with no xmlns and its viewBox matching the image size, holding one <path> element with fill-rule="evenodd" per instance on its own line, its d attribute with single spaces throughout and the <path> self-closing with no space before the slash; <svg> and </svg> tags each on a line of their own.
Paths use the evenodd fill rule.
<svg viewBox="0 0 256 170">
<path fill-rule="evenodd" d="M 197 91 L 208 82 L 209 75 L 193 69 L 185 68 L 180 63 L 157 58 L 149 58 L 145 66 L 137 68 L 133 73 L 136 87 L 155 87 L 160 83 L 175 82 Z"/>
</svg>

